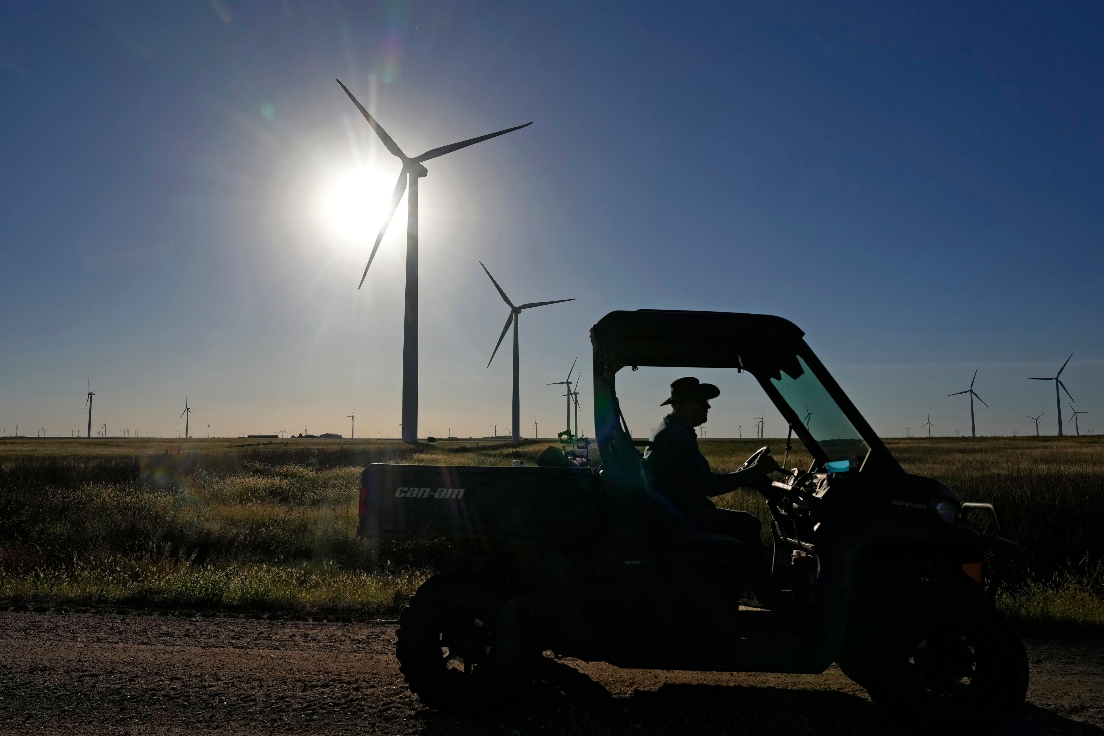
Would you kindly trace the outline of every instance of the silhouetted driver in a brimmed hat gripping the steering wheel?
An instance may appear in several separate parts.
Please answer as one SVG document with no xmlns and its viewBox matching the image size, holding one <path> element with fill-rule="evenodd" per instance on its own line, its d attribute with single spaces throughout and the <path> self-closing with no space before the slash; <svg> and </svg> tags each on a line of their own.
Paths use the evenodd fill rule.
<svg viewBox="0 0 1104 736">
<path fill-rule="evenodd" d="M 698 449 L 694 427 L 705 424 L 709 399 L 720 395 L 720 388 L 692 376 L 671 383 L 671 396 L 660 406 L 670 404 L 673 410 L 651 434 L 651 441 L 644 451 L 645 474 L 649 487 L 681 512 L 682 522 L 691 530 L 726 534 L 747 545 L 752 557 L 749 570 L 752 588 L 762 605 L 774 608 L 781 598 L 767 573 L 760 542 L 760 520 L 746 511 L 718 509 L 709 497 L 741 487 L 755 488 L 767 473 L 781 468 L 773 457 L 764 454 L 750 468 L 737 472 L 710 470 L 709 461 Z"/>
</svg>

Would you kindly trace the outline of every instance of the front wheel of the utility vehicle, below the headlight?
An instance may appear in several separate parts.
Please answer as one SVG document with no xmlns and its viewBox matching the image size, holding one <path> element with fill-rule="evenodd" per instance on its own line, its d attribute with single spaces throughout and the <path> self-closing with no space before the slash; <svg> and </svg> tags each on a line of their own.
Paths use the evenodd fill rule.
<svg viewBox="0 0 1104 736">
<path fill-rule="evenodd" d="M 863 647 L 862 684 L 907 724 L 988 730 L 1028 687 L 1023 643 L 980 590 L 925 582 L 885 601 Z"/>
</svg>

